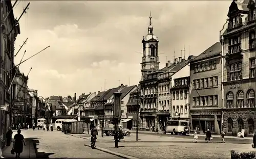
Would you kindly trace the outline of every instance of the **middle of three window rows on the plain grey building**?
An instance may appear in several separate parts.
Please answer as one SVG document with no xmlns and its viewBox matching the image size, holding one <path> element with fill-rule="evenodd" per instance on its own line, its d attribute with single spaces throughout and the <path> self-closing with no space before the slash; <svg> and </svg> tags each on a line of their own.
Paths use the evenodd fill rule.
<svg viewBox="0 0 256 159">
<path fill-rule="evenodd" d="M 193 80 L 193 89 L 209 88 L 218 86 L 218 76 Z"/>
</svg>

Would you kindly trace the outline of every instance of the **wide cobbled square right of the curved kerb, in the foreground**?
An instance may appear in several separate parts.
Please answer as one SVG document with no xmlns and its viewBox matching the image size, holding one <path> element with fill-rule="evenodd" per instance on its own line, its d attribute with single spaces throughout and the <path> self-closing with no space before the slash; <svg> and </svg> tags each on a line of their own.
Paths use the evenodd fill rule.
<svg viewBox="0 0 256 159">
<path fill-rule="evenodd" d="M 138 158 L 230 158 L 230 150 L 250 151 L 250 144 L 229 143 L 96 143 L 97 146 Z"/>
</svg>

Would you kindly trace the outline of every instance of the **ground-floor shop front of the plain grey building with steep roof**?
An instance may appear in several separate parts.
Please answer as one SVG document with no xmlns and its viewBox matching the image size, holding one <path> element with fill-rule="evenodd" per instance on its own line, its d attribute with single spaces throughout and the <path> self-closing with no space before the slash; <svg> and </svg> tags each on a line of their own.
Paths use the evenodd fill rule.
<svg viewBox="0 0 256 159">
<path fill-rule="evenodd" d="M 198 131 L 199 134 L 205 134 L 207 129 L 211 133 L 220 134 L 221 131 L 221 111 L 202 111 L 190 110 L 191 125 L 190 131 Z"/>
</svg>

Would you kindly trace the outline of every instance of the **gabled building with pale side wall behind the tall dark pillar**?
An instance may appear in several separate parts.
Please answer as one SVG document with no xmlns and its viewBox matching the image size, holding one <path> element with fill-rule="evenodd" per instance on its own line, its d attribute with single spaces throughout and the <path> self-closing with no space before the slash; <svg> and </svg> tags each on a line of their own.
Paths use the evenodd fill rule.
<svg viewBox="0 0 256 159">
<path fill-rule="evenodd" d="M 116 92 L 122 93 L 121 94 L 121 122 L 120 124 L 123 124 L 124 127 L 132 128 L 132 119 L 133 118 L 127 118 L 127 107 L 126 104 L 129 101 L 130 93 L 137 89 L 137 86 L 127 86 L 122 85 L 119 87 L 119 89 Z M 115 92 L 113 92 L 115 93 Z M 111 123 L 112 119 L 114 117 L 114 94 L 107 99 L 107 102 L 104 105 L 104 111 L 105 111 L 105 123 Z"/>
</svg>

